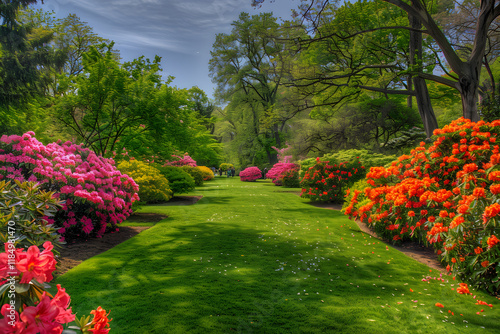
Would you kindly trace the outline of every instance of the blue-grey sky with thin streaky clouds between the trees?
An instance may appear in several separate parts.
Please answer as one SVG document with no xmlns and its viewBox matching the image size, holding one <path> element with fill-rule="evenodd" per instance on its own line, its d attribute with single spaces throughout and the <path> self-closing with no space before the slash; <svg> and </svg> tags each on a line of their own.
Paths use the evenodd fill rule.
<svg viewBox="0 0 500 334">
<path fill-rule="evenodd" d="M 124 61 L 159 55 L 164 75 L 175 77 L 173 85 L 198 86 L 211 97 L 208 61 L 215 35 L 229 33 L 240 12 L 289 19 L 299 3 L 268 0 L 255 9 L 251 0 L 44 0 L 37 7 L 60 18 L 76 14 L 99 36 L 115 41 Z"/>
</svg>

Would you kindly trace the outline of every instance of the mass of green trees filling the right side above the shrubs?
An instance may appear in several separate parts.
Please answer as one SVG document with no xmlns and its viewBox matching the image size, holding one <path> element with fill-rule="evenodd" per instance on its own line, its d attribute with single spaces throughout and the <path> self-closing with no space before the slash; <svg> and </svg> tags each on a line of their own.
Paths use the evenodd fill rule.
<svg viewBox="0 0 500 334">
<path fill-rule="evenodd" d="M 265 6 L 264 1 L 253 1 Z M 301 0 L 242 13 L 213 45 L 215 133 L 241 166 L 340 149 L 404 149 L 464 116 L 497 118 L 494 1 Z"/>
</svg>

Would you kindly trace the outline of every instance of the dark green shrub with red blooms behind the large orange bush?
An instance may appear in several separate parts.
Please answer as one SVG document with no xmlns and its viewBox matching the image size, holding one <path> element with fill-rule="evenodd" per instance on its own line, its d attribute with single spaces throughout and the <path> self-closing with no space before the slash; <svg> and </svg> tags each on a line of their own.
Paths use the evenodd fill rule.
<svg viewBox="0 0 500 334">
<path fill-rule="evenodd" d="M 330 165 L 328 161 L 316 158 L 316 164 L 309 168 L 300 181 L 300 196 L 313 201 L 342 203 L 344 191 L 359 179 L 363 170 L 358 159 Z"/>
</svg>

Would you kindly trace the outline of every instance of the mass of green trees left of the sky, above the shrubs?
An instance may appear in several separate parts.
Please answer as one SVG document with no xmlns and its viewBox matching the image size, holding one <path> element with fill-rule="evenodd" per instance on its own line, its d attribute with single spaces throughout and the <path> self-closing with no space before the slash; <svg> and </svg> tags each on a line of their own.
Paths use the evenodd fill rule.
<svg viewBox="0 0 500 334">
<path fill-rule="evenodd" d="M 105 157 L 161 161 L 189 152 L 218 165 L 213 103 L 198 87 L 162 79 L 160 57 L 122 62 L 76 15 L 56 19 L 36 1 L 0 6 L 0 131 L 72 140 Z"/>
</svg>

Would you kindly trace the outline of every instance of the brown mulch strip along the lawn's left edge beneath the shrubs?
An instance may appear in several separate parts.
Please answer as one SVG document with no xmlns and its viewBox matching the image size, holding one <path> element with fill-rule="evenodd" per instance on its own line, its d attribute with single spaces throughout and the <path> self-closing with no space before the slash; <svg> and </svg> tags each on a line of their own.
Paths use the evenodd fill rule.
<svg viewBox="0 0 500 334">
<path fill-rule="evenodd" d="M 192 205 L 198 202 L 203 196 L 174 196 L 167 203 L 157 205 Z M 167 218 L 166 215 L 156 213 L 133 213 L 128 221 L 134 223 L 157 223 Z M 77 241 L 72 244 L 63 245 L 60 250 L 59 263 L 56 275 L 62 275 L 81 262 L 93 256 L 101 254 L 108 249 L 136 236 L 151 226 L 119 226 L 119 231 L 106 233 L 102 238 L 92 238 L 87 241 Z"/>
</svg>

